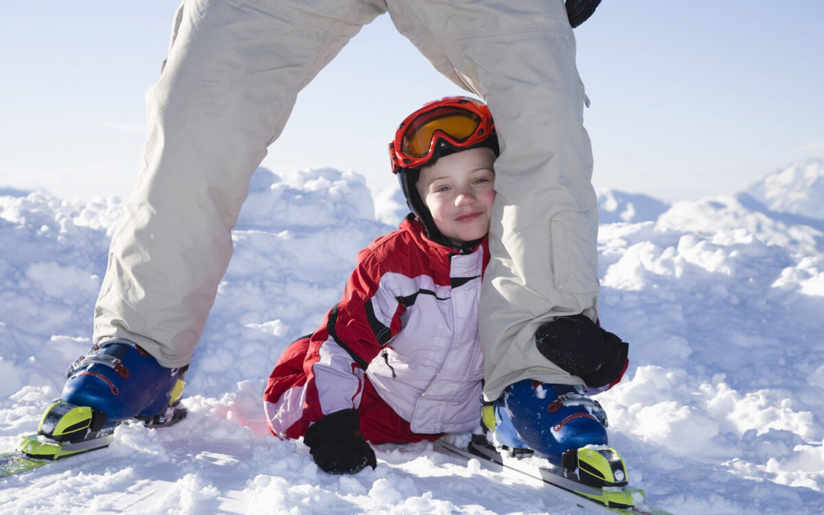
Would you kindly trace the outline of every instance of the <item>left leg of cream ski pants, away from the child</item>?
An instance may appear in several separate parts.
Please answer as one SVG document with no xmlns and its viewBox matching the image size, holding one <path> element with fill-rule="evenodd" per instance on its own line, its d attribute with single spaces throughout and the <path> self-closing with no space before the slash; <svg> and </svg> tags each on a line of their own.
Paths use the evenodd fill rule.
<svg viewBox="0 0 824 515">
<path fill-rule="evenodd" d="M 140 176 L 112 237 L 95 341 L 131 339 L 164 367 L 190 362 L 252 172 L 297 92 L 385 11 L 382 0 L 185 0 L 147 92 Z"/>
</svg>

